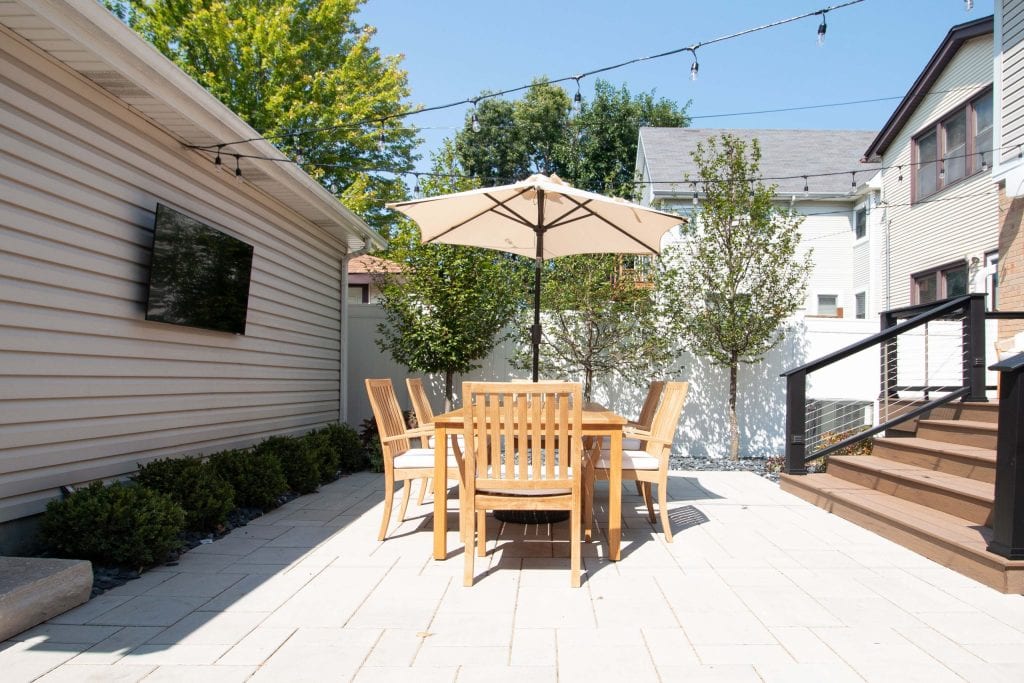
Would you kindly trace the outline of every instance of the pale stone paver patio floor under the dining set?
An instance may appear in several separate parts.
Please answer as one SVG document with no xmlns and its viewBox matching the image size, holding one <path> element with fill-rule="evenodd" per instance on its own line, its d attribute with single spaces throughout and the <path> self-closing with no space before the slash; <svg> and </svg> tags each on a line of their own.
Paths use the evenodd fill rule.
<svg viewBox="0 0 1024 683">
<path fill-rule="evenodd" d="M 431 559 L 429 498 L 377 542 L 382 489 L 341 479 L 0 643 L 0 678 L 1020 680 L 1024 596 L 750 473 L 674 472 L 673 544 L 626 485 L 623 560 L 598 524 L 578 590 L 565 523 L 492 522 L 465 588 L 457 530 L 450 559 Z"/>
</svg>

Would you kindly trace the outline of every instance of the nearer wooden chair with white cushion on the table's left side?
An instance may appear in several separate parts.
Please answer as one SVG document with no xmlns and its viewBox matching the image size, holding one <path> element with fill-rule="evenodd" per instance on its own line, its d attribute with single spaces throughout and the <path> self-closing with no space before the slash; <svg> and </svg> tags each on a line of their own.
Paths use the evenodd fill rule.
<svg viewBox="0 0 1024 683">
<path fill-rule="evenodd" d="M 401 494 L 401 510 L 399 521 L 406 519 L 409 508 L 410 487 L 413 479 L 425 479 L 434 473 L 434 450 L 427 446 L 427 437 L 433 436 L 433 426 L 422 425 L 409 429 L 394 393 L 394 385 L 390 379 L 368 379 L 367 394 L 370 396 L 370 407 L 377 421 L 377 431 L 380 433 L 381 449 L 384 452 L 384 520 L 377 537 L 383 541 L 387 536 L 388 523 L 391 520 L 391 507 L 394 502 L 394 484 L 404 481 Z M 421 447 L 413 447 L 412 441 L 419 439 Z M 449 472 L 453 478 L 458 476 L 459 464 L 454 455 L 449 455 Z M 426 483 L 424 483 L 426 486 Z"/>
</svg>

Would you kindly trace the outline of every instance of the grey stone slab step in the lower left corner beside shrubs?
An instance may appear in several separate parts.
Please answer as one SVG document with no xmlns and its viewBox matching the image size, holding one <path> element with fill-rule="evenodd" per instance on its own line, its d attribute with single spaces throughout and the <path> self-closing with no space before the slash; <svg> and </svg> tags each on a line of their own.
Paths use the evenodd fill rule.
<svg viewBox="0 0 1024 683">
<path fill-rule="evenodd" d="M 89 599 L 92 564 L 48 557 L 0 557 L 0 641 Z"/>
</svg>

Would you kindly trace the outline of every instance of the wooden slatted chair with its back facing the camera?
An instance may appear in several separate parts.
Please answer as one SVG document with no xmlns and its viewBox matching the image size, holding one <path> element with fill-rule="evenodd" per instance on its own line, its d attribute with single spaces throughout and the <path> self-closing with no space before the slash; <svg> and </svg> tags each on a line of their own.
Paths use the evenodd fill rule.
<svg viewBox="0 0 1024 683">
<path fill-rule="evenodd" d="M 570 584 L 579 588 L 582 387 L 568 382 L 464 382 L 462 394 L 465 585 L 473 585 L 474 540 L 477 554 L 485 554 L 487 510 L 568 510 Z"/>
</svg>

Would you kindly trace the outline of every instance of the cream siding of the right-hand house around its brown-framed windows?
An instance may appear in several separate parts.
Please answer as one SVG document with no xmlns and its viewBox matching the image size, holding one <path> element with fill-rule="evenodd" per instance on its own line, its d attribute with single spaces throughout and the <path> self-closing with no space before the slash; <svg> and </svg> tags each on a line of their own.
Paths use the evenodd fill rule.
<svg viewBox="0 0 1024 683">
<path fill-rule="evenodd" d="M 909 305 L 913 273 L 996 248 L 998 197 L 988 173 L 977 173 L 910 204 L 913 136 L 991 84 L 991 37 L 965 43 L 932 87 L 943 94 L 926 97 L 886 151 L 883 165 L 890 168 L 883 178 L 883 230 L 889 231 L 890 253 L 888 263 L 884 260 L 881 265 L 883 289 L 891 288 L 893 308 Z M 885 306 L 885 292 L 882 302 Z"/>
</svg>

